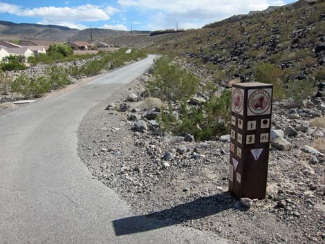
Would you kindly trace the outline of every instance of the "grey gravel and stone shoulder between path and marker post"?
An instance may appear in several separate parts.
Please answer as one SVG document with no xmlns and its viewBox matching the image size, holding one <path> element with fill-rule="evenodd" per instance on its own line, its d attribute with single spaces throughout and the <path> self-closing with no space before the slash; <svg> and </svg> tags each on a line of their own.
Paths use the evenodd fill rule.
<svg viewBox="0 0 325 244">
<path fill-rule="evenodd" d="M 132 131 L 146 111 L 105 110 L 143 91 L 142 76 L 95 106 L 78 131 L 78 153 L 94 178 L 120 194 L 135 214 L 212 232 L 240 243 L 324 243 L 324 156 L 310 164 L 304 145 L 324 129 L 287 138 L 291 151 L 271 147 L 268 198 L 248 208 L 228 193 L 229 142 L 186 142 L 184 137 Z M 135 105 L 136 104 L 136 105 Z M 299 123 L 275 104 L 273 127 Z M 298 111 L 299 112 L 299 111 Z M 279 129 L 279 128 L 277 128 Z M 183 151 L 181 150 L 183 149 Z M 172 158 L 162 157 L 170 152 Z M 279 204 L 283 203 L 283 205 Z M 281 206 L 281 207 L 280 207 Z"/>
</svg>

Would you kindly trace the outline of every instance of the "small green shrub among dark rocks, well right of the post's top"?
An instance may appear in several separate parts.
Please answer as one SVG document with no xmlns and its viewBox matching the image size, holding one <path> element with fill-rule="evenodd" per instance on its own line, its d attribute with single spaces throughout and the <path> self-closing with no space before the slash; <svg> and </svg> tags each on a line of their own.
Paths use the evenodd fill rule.
<svg viewBox="0 0 325 244">
<path fill-rule="evenodd" d="M 292 104 L 301 105 L 308 97 L 315 95 L 317 87 L 314 79 L 290 80 L 287 83 L 286 97 Z"/>
</svg>

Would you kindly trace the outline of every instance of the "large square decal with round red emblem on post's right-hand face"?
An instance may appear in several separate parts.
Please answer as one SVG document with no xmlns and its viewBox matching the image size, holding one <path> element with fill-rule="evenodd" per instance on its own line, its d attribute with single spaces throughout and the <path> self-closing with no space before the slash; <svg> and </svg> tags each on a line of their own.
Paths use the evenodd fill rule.
<svg viewBox="0 0 325 244">
<path fill-rule="evenodd" d="M 272 88 L 248 90 L 247 115 L 263 115 L 271 113 Z"/>
</svg>

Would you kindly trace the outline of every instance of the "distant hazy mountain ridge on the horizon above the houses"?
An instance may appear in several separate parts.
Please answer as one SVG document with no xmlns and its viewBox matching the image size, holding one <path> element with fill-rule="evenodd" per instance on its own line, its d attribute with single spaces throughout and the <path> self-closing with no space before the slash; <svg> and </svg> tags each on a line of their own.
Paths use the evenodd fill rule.
<svg viewBox="0 0 325 244">
<path fill-rule="evenodd" d="M 93 39 L 129 35 L 129 31 L 93 28 Z M 149 34 L 149 31 L 133 31 L 134 34 Z M 13 23 L 0 21 L 0 39 L 39 39 L 49 41 L 86 41 L 91 30 L 77 30 L 66 26 Z"/>
</svg>

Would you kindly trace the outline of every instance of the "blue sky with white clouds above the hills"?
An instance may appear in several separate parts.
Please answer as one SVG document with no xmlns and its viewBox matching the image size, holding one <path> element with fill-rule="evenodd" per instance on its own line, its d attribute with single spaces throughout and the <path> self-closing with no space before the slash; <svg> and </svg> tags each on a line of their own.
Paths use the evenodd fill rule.
<svg viewBox="0 0 325 244">
<path fill-rule="evenodd" d="M 115 30 L 201 28 L 232 15 L 293 0 L 0 0 L 0 20 Z"/>
</svg>

